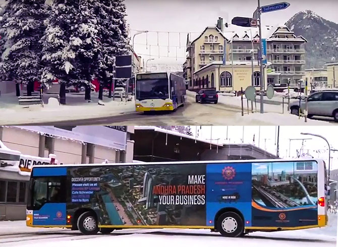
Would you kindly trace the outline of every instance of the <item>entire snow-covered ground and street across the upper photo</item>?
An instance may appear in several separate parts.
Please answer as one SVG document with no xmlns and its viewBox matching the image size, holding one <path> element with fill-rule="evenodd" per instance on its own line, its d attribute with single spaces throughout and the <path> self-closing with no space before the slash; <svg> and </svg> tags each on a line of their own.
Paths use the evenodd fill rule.
<svg viewBox="0 0 338 247">
<path fill-rule="evenodd" d="M 3 97 L 3 96 L 2 96 Z M 51 96 L 49 96 L 51 97 Z M 276 99 L 275 99 L 276 98 Z M 304 118 L 291 115 L 285 104 L 283 108 L 278 101 L 280 97 L 273 98 L 274 102 L 264 104 L 264 115 L 259 113 L 249 114 L 247 102 L 244 100 L 244 116 L 241 115 L 241 99 L 226 94 L 219 94 L 218 104 L 200 104 L 195 102 L 195 93 L 187 91 L 188 102 L 184 107 L 175 112 L 154 112 L 143 114 L 135 111 L 134 101 L 121 102 L 120 99 L 111 101 L 104 98 L 105 105 L 97 104 L 97 95 L 92 95 L 90 103 L 83 103 L 82 95 L 70 94 L 70 105 L 45 104 L 44 107 L 33 105 L 19 108 L 17 102 L 13 102 L 12 108 L 0 107 L 0 125 L 336 125 L 330 118 L 314 118 L 304 122 Z M 1 100 L 1 98 L 0 98 Z M 264 99 L 265 100 L 265 99 Z M 48 102 L 47 99 L 45 99 Z M 82 105 L 81 103 L 82 102 Z M 50 105 L 49 105 L 50 104 Z M 6 105 L 4 106 L 6 107 Z M 249 104 L 251 107 L 251 103 Z M 255 107 L 255 106 L 254 106 Z M 20 112 L 20 114 L 18 114 Z"/>
</svg>

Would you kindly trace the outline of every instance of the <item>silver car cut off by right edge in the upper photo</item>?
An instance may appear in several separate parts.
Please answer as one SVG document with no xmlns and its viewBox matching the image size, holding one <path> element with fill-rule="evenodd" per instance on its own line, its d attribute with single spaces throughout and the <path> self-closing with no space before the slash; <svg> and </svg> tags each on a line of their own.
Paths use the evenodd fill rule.
<svg viewBox="0 0 338 247">
<path fill-rule="evenodd" d="M 308 117 L 330 116 L 338 121 L 338 90 L 325 90 L 308 97 Z M 301 112 L 306 108 L 306 99 L 301 99 Z M 290 104 L 291 114 L 298 115 L 299 100 Z"/>
</svg>

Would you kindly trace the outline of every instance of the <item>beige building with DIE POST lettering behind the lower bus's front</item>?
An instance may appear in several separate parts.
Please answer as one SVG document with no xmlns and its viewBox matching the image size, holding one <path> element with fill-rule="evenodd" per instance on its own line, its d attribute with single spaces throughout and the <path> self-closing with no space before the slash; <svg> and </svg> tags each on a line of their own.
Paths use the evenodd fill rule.
<svg viewBox="0 0 338 247">
<path fill-rule="evenodd" d="M 31 165 L 47 165 L 53 156 L 57 164 L 133 162 L 133 133 L 134 127 L 0 127 L 0 220 L 26 218 Z"/>
</svg>

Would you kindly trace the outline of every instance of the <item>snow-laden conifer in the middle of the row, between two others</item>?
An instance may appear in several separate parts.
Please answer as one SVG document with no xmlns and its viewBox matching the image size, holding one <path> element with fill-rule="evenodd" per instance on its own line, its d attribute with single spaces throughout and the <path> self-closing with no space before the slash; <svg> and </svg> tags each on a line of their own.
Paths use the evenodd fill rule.
<svg viewBox="0 0 338 247">
<path fill-rule="evenodd" d="M 57 79 L 60 101 L 66 103 L 66 86 L 86 89 L 85 100 L 90 100 L 92 80 L 97 74 L 100 44 L 98 26 L 92 10 L 93 0 L 54 0 L 51 14 L 45 21 L 42 82 Z"/>
</svg>

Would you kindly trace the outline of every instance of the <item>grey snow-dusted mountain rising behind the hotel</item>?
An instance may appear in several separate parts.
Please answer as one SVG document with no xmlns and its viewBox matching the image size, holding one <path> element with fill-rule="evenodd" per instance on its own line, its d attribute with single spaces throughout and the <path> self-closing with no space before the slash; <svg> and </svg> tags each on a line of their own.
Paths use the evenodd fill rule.
<svg viewBox="0 0 338 247">
<path fill-rule="evenodd" d="M 305 45 L 307 69 L 338 62 L 338 24 L 306 10 L 294 15 L 286 25 L 297 36 L 308 40 Z"/>
</svg>

